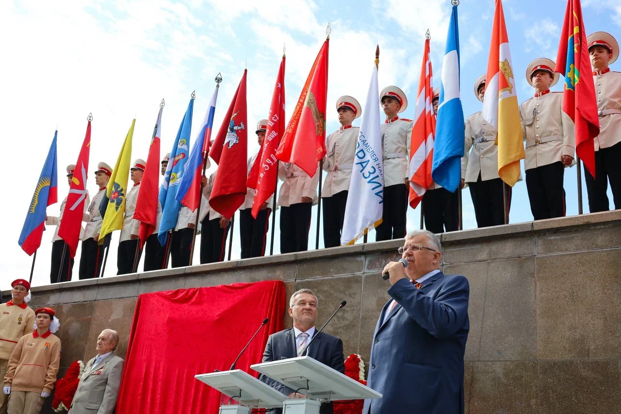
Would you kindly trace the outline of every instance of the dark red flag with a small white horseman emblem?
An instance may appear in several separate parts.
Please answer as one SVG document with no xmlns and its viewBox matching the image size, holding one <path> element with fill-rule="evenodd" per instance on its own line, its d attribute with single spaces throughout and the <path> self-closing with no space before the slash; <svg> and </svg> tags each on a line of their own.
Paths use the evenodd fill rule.
<svg viewBox="0 0 621 414">
<path fill-rule="evenodd" d="M 242 80 L 224 117 L 220 131 L 215 137 L 209 155 L 218 164 L 214 187 L 209 197 L 209 205 L 225 218 L 231 218 L 246 198 L 246 170 L 248 152 L 248 131 L 246 126 L 246 74 Z"/>
</svg>

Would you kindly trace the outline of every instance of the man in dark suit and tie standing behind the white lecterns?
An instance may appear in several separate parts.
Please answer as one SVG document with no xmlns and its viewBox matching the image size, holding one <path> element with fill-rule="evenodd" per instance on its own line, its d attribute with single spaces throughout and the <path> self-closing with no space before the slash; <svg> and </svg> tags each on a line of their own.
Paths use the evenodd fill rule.
<svg viewBox="0 0 621 414">
<path fill-rule="evenodd" d="M 289 316 L 293 320 L 293 328 L 284 329 L 284 331 L 270 335 L 263 352 L 263 362 L 307 355 L 345 374 L 343 341 L 327 333 L 316 333 L 317 305 L 317 297 L 310 289 L 300 289 L 291 295 L 289 300 Z M 312 339 L 313 337 L 314 339 Z M 302 353 L 306 344 L 311 342 L 311 339 L 312 344 L 306 352 Z M 295 390 L 263 374 L 260 375 L 259 379 L 291 398 L 304 398 L 303 391 L 297 393 Z M 279 414 L 281 412 L 282 410 L 277 408 L 272 413 Z M 323 403 L 319 413 L 332 414 L 332 403 Z"/>
</svg>

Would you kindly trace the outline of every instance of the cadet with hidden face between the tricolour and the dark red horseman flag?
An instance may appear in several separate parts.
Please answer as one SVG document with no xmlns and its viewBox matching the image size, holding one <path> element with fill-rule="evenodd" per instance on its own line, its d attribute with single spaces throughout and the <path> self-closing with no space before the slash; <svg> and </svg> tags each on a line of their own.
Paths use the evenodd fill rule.
<svg viewBox="0 0 621 414">
<path fill-rule="evenodd" d="M 212 142 L 213 144 L 213 142 Z M 222 216 L 209 205 L 209 196 L 214 188 L 214 171 L 209 180 L 206 180 L 202 190 L 201 214 L 201 264 L 222 262 L 226 249 L 227 236 L 229 235 L 230 219 Z"/>
</svg>

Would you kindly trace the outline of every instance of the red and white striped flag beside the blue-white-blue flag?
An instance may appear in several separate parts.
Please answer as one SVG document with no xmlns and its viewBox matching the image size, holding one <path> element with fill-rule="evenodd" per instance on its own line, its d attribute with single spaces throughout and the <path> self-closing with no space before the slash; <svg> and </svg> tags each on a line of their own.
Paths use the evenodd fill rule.
<svg viewBox="0 0 621 414">
<path fill-rule="evenodd" d="M 433 139 L 433 72 L 429 57 L 429 39 L 425 40 L 422 67 L 420 68 L 419 93 L 414 109 L 412 145 L 410 145 L 410 206 L 416 208 L 425 191 L 432 185 Z"/>
</svg>

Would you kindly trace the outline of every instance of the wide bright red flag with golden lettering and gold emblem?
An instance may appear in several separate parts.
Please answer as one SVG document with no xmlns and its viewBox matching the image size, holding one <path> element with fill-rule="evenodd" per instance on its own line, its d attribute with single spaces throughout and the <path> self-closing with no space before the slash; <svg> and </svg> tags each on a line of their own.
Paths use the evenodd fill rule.
<svg viewBox="0 0 621 414">
<path fill-rule="evenodd" d="M 325 39 L 276 152 L 276 158 L 296 164 L 311 177 L 325 155 L 328 44 L 329 39 Z"/>
</svg>

